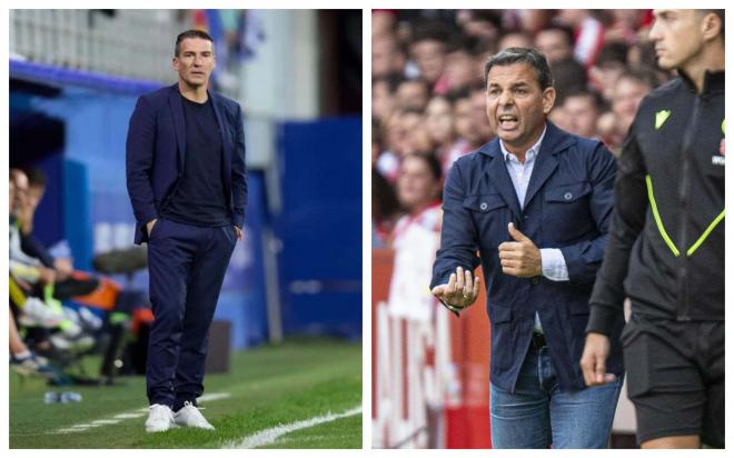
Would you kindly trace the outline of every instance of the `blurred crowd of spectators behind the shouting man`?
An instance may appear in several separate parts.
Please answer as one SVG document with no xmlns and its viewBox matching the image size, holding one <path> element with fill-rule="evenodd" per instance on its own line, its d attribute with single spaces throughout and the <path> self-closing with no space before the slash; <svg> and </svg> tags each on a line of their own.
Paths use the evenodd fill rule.
<svg viewBox="0 0 734 458">
<path fill-rule="evenodd" d="M 550 64 L 549 119 L 622 149 L 639 101 L 672 74 L 656 67 L 651 10 L 374 10 L 373 248 L 400 227 L 438 232 L 443 179 L 492 140 L 484 64 L 535 47 Z M 438 212 L 439 213 L 439 212 Z"/>
</svg>

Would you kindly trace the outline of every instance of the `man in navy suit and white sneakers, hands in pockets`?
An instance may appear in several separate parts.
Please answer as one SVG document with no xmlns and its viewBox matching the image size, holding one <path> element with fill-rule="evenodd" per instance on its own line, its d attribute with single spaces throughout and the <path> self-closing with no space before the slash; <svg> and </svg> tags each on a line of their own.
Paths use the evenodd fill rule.
<svg viewBox="0 0 734 458">
<path fill-rule="evenodd" d="M 207 333 L 235 243 L 242 238 L 247 180 L 239 104 L 207 89 L 214 41 L 178 36 L 176 84 L 141 96 L 130 118 L 127 182 L 148 243 L 149 432 L 214 427 L 196 407 L 204 392 Z"/>
</svg>

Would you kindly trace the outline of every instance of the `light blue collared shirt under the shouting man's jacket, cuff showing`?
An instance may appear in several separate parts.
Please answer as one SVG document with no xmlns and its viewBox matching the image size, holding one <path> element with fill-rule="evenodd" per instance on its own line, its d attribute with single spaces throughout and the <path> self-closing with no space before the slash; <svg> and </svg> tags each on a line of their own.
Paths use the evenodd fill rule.
<svg viewBox="0 0 734 458">
<path fill-rule="evenodd" d="M 530 175 L 533 175 L 535 160 L 540 152 L 540 145 L 543 143 L 545 131 L 546 129 L 543 128 L 543 133 L 540 133 L 538 141 L 525 152 L 524 163 L 519 161 L 517 156 L 507 151 L 505 143 L 499 140 L 499 148 L 505 157 L 507 172 L 515 187 L 515 193 L 517 195 L 517 200 L 519 200 L 520 208 L 525 205 L 527 186 L 530 182 Z M 553 281 L 568 281 L 568 267 L 566 266 L 563 252 L 561 252 L 558 248 L 540 248 L 540 263 L 543 266 L 543 277 Z M 538 317 L 538 313 L 535 313 L 535 330 L 543 332 L 543 326 L 540 326 L 540 317 Z"/>
</svg>

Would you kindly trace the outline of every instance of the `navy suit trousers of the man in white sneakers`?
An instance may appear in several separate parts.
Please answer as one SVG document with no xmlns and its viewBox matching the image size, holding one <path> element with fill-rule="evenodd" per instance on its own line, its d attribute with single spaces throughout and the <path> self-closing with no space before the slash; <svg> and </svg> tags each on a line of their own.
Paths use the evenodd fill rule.
<svg viewBox="0 0 734 458">
<path fill-rule="evenodd" d="M 178 410 L 204 392 L 207 335 L 237 238 L 234 226 L 204 228 L 159 218 L 148 241 L 148 401 Z"/>
</svg>

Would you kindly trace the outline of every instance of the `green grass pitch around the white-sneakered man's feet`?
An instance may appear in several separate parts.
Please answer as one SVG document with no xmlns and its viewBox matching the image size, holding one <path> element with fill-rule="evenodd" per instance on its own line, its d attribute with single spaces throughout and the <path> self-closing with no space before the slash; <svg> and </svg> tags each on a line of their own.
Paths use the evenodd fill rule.
<svg viewBox="0 0 734 458">
<path fill-rule="evenodd" d="M 215 431 L 177 428 L 147 434 L 146 417 L 123 419 L 81 432 L 60 428 L 110 419 L 147 406 L 143 377 L 123 377 L 111 387 L 68 387 L 79 404 L 44 405 L 38 378 L 10 372 L 10 448 L 220 448 L 249 435 L 361 404 L 361 347 L 328 339 L 288 340 L 234 354 L 230 374 L 209 375 L 206 394 L 228 399 L 202 402 Z M 361 414 L 281 436 L 267 448 L 361 448 Z"/>
</svg>

